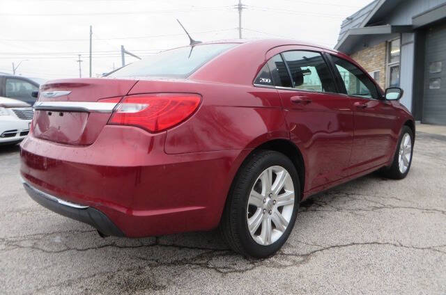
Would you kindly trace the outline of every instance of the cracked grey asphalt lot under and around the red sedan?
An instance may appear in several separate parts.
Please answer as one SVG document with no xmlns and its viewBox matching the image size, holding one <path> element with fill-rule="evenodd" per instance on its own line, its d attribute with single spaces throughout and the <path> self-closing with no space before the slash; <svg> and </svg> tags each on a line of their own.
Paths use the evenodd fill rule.
<svg viewBox="0 0 446 295">
<path fill-rule="evenodd" d="M 40 207 L 0 147 L 0 294 L 446 294 L 446 137 L 417 134 L 405 180 L 374 173 L 302 203 L 249 260 L 216 232 L 102 239 Z"/>
</svg>

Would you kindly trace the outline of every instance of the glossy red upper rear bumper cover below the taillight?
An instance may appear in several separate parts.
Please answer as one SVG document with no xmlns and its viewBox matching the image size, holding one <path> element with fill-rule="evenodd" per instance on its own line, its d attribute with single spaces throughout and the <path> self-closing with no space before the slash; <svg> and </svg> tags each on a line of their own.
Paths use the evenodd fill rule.
<svg viewBox="0 0 446 295">
<path fill-rule="evenodd" d="M 249 150 L 166 154 L 164 141 L 162 133 L 109 125 L 88 146 L 31 134 L 20 145 L 20 172 L 38 191 L 102 212 L 125 237 L 215 228 Z"/>
</svg>

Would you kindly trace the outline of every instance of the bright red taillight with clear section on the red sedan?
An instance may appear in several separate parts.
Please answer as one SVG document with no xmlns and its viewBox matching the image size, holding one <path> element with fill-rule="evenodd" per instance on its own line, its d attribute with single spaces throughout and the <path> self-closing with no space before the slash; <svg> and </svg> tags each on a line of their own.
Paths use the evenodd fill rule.
<svg viewBox="0 0 446 295">
<path fill-rule="evenodd" d="M 130 95 L 117 104 L 108 124 L 158 132 L 178 125 L 197 110 L 201 96 L 190 93 Z"/>
</svg>

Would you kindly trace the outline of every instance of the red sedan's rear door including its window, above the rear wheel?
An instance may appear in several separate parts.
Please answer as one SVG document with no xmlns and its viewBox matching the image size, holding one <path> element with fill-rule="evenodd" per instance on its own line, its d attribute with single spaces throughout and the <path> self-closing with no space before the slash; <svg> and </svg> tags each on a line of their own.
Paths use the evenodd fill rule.
<svg viewBox="0 0 446 295">
<path fill-rule="evenodd" d="M 353 143 L 351 99 L 340 95 L 321 52 L 284 51 L 268 62 L 291 141 L 305 160 L 306 191 L 339 180 Z"/>
</svg>

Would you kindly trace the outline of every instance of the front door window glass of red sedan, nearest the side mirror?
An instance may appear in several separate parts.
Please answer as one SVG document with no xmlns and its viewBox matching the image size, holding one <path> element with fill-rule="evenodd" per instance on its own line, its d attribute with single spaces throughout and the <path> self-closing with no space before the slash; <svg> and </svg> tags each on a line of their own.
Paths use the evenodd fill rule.
<svg viewBox="0 0 446 295">
<path fill-rule="evenodd" d="M 375 83 L 362 70 L 344 59 L 332 56 L 341 79 L 344 81 L 348 95 L 378 99 Z"/>
</svg>

